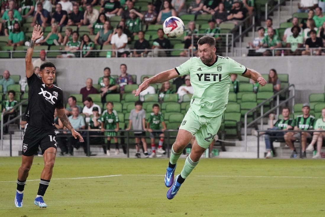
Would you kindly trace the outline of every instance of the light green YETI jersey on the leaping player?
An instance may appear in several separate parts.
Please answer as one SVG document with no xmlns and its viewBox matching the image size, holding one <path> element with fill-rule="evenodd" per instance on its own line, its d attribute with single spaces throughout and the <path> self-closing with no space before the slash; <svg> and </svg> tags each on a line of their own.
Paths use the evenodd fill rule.
<svg viewBox="0 0 325 217">
<path fill-rule="evenodd" d="M 211 66 L 192 57 L 175 68 L 178 75 L 190 75 L 194 93 L 191 109 L 198 116 L 217 117 L 226 110 L 230 74 L 245 74 L 247 69 L 229 57 L 217 56 Z"/>
</svg>

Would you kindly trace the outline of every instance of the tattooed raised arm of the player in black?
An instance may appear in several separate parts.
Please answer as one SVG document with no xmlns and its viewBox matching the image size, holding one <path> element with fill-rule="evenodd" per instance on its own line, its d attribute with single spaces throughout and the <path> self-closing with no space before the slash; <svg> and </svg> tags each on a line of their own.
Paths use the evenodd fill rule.
<svg viewBox="0 0 325 217">
<path fill-rule="evenodd" d="M 26 62 L 26 76 L 29 78 L 30 76 L 33 75 L 34 73 L 34 66 L 32 63 L 32 56 L 33 56 L 33 51 L 34 51 L 34 45 L 37 39 L 41 38 L 43 35 L 42 33 L 42 28 L 40 25 L 35 25 L 34 30 L 32 33 L 32 40 L 31 44 L 29 45 L 25 57 L 25 62 Z"/>
</svg>

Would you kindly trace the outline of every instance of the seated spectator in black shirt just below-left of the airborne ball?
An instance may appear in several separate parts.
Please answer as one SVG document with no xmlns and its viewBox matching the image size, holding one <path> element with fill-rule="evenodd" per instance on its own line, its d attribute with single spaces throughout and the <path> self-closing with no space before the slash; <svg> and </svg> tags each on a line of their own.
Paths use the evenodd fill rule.
<svg viewBox="0 0 325 217">
<path fill-rule="evenodd" d="M 169 39 L 164 37 L 164 32 L 162 29 L 157 30 L 158 38 L 153 40 L 153 45 L 151 49 L 153 51 L 148 53 L 148 56 L 154 56 L 154 57 L 166 57 L 169 55 L 169 51 L 164 51 L 160 49 L 171 49 L 170 41 Z"/>
</svg>

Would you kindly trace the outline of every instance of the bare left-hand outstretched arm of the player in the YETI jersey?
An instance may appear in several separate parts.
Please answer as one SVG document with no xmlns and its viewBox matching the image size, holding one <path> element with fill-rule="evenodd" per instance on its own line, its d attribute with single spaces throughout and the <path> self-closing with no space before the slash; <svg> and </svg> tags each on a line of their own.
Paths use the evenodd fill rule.
<svg viewBox="0 0 325 217">
<path fill-rule="evenodd" d="M 145 80 L 142 84 L 140 84 L 138 90 L 136 91 L 136 95 L 138 96 L 141 91 L 145 90 L 148 88 L 149 84 L 157 84 L 157 83 L 162 83 L 165 81 L 169 81 L 170 79 L 173 79 L 175 77 L 178 77 L 179 75 L 177 74 L 175 69 L 171 69 L 168 71 L 161 72 L 147 80 Z"/>
</svg>

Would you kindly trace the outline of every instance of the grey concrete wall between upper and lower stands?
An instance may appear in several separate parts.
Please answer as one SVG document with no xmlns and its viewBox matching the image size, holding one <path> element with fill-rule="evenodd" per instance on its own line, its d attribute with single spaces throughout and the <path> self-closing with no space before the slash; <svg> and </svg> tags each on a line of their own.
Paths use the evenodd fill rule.
<svg viewBox="0 0 325 217">
<path fill-rule="evenodd" d="M 236 61 L 253 68 L 261 74 L 267 74 L 271 68 L 279 74 L 288 73 L 290 84 L 296 87 L 296 103 L 308 102 L 310 93 L 324 93 L 325 67 L 324 57 L 235 57 Z M 97 83 L 103 75 L 104 67 L 111 69 L 111 75 L 120 74 L 120 64 L 125 63 L 129 74 L 137 75 L 140 83 L 141 75 L 154 75 L 188 60 L 187 57 L 179 58 L 67 58 L 48 59 L 57 67 L 57 83 L 65 91 L 65 97 L 70 93 L 79 93 L 85 86 L 88 77 Z M 23 59 L 0 59 L 0 72 L 9 70 L 12 75 L 25 75 L 25 61 Z M 66 100 L 66 99 L 65 99 Z M 65 101 L 66 102 L 66 101 Z"/>
</svg>

